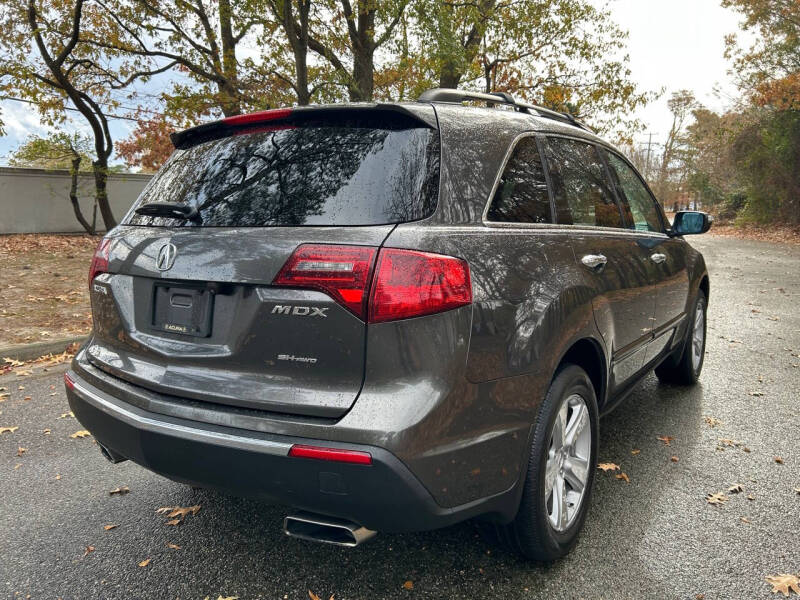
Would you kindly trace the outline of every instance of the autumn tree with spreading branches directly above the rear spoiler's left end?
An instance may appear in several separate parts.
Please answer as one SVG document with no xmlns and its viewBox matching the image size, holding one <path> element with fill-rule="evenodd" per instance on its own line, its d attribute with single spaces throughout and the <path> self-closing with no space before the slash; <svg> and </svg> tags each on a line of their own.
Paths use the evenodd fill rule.
<svg viewBox="0 0 800 600">
<path fill-rule="evenodd" d="M 257 76 L 253 59 L 242 51 L 263 28 L 261 2 L 96 1 L 104 9 L 105 31 L 90 43 L 138 59 L 149 71 L 179 74 L 163 93 L 171 115 L 190 122 L 214 111 L 229 117 L 285 97 L 285 82 Z"/>
</svg>

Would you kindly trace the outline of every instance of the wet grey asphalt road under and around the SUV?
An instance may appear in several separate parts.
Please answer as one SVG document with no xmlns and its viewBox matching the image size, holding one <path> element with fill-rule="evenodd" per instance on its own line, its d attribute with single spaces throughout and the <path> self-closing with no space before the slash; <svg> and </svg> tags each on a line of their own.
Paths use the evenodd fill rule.
<svg viewBox="0 0 800 600">
<path fill-rule="evenodd" d="M 81 426 L 59 418 L 69 409 L 56 367 L 0 378 L 11 394 L 0 427 L 19 427 L 0 435 L 0 598 L 774 598 L 765 575 L 800 573 L 800 247 L 693 243 L 712 282 L 701 384 L 650 375 L 601 422 L 600 460 L 630 483 L 598 472 L 566 559 L 526 564 L 471 523 L 351 550 L 288 539 L 280 506 L 111 465 L 91 438 L 71 439 Z M 706 503 L 737 483 L 724 505 Z M 129 494 L 109 496 L 123 485 Z M 179 527 L 155 513 L 195 504 Z"/>
</svg>

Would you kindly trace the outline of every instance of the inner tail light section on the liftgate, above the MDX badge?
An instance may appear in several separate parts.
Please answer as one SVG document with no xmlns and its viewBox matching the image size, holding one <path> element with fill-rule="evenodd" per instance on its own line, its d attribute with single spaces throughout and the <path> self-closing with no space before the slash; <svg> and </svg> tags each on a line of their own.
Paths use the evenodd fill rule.
<svg viewBox="0 0 800 600">
<path fill-rule="evenodd" d="M 294 251 L 272 282 L 325 292 L 366 320 L 376 248 L 304 244 Z"/>
</svg>

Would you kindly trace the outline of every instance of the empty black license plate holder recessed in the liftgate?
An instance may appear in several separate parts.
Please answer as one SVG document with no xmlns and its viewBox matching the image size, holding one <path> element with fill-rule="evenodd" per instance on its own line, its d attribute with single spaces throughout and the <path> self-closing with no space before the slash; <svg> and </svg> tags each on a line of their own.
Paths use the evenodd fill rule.
<svg viewBox="0 0 800 600">
<path fill-rule="evenodd" d="M 153 328 L 192 337 L 211 335 L 214 294 L 205 286 L 153 285 Z"/>
</svg>

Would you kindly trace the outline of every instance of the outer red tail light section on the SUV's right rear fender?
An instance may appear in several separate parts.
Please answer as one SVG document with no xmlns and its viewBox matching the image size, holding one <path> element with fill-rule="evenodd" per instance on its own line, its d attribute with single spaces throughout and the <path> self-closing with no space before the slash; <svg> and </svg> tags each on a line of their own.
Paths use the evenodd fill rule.
<svg viewBox="0 0 800 600">
<path fill-rule="evenodd" d="M 466 261 L 414 250 L 381 250 L 369 303 L 370 323 L 419 317 L 471 303 Z"/>
</svg>

